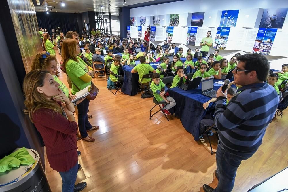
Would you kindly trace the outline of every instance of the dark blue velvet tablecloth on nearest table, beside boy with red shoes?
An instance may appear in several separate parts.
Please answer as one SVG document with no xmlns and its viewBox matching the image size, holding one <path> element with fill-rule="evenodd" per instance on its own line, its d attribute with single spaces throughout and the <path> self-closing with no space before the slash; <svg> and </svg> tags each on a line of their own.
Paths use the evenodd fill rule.
<svg viewBox="0 0 288 192">
<path fill-rule="evenodd" d="M 215 84 L 219 79 L 213 79 L 214 90 L 220 88 L 220 84 Z M 178 87 L 168 89 L 171 97 L 176 101 L 175 115 L 180 118 L 183 127 L 187 132 L 194 136 L 194 140 L 199 140 L 199 123 L 203 119 L 206 111 L 212 106 L 209 105 L 208 109 L 204 110 L 203 103 L 209 101 L 211 98 L 202 95 L 202 83 L 199 87 L 191 90 L 183 90 Z"/>
</svg>

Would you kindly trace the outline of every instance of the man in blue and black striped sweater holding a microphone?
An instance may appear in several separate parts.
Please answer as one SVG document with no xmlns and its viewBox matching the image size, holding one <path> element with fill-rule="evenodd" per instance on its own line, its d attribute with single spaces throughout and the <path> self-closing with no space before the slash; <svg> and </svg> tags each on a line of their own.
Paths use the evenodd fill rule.
<svg viewBox="0 0 288 192">
<path fill-rule="evenodd" d="M 252 157 L 262 144 L 279 102 L 276 90 L 266 82 L 268 72 L 269 63 L 263 55 L 239 56 L 232 72 L 235 84 L 242 86 L 238 94 L 226 106 L 226 94 L 222 87 L 218 89 L 215 107 L 219 136 L 215 171 L 218 185 L 213 189 L 204 184 L 204 191 L 232 191 L 241 161 Z"/>
</svg>

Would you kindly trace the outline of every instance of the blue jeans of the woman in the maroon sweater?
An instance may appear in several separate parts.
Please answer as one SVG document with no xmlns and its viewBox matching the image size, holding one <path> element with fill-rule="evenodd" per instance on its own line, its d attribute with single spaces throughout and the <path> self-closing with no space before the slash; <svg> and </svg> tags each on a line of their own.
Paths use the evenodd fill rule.
<svg viewBox="0 0 288 192">
<path fill-rule="evenodd" d="M 77 178 L 78 162 L 69 171 L 59 172 L 62 178 L 62 192 L 73 192 Z"/>
</svg>

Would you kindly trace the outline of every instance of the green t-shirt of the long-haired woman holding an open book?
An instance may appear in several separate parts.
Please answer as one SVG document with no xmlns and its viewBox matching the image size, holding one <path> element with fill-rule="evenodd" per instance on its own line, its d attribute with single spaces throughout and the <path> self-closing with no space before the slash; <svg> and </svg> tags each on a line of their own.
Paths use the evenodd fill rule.
<svg viewBox="0 0 288 192">
<path fill-rule="evenodd" d="M 82 75 L 84 75 L 85 73 L 88 72 L 88 69 L 86 67 L 86 63 L 80 58 L 77 57 L 78 62 L 70 59 L 67 63 L 66 63 L 66 72 L 67 75 L 70 77 L 72 83 L 72 89 L 71 92 L 72 94 L 75 94 L 76 92 L 86 88 L 88 85 L 91 84 L 91 82 L 85 83 L 84 81 L 82 81 L 79 77 L 81 77 Z M 80 90 L 78 88 L 76 88 L 76 86 L 78 88 L 80 88 Z"/>
</svg>

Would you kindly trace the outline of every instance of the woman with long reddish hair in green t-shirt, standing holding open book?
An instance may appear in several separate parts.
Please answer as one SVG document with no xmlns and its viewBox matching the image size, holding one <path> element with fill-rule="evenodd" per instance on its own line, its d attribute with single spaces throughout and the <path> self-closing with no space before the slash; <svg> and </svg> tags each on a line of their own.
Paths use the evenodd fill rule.
<svg viewBox="0 0 288 192">
<path fill-rule="evenodd" d="M 91 85 L 92 75 L 94 71 L 77 55 L 80 49 L 75 39 L 65 39 L 62 43 L 62 60 L 63 67 L 72 81 L 72 94 Z M 88 142 L 95 141 L 94 138 L 88 136 L 87 132 L 91 130 L 98 130 L 99 126 L 92 126 L 88 121 L 88 107 L 89 100 L 84 99 L 77 105 L 78 109 L 78 126 L 82 139 Z"/>
</svg>

